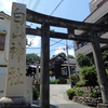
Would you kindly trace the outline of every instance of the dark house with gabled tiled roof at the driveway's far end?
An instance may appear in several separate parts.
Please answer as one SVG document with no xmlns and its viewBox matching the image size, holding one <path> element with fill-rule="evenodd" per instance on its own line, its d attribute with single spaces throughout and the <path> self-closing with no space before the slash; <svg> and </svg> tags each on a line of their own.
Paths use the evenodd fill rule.
<svg viewBox="0 0 108 108">
<path fill-rule="evenodd" d="M 71 73 L 76 71 L 75 58 L 69 58 L 69 67 Z M 60 54 L 53 56 L 52 58 L 50 58 L 50 70 L 54 72 L 56 79 L 58 77 L 68 78 L 68 58 L 62 56 Z"/>
</svg>

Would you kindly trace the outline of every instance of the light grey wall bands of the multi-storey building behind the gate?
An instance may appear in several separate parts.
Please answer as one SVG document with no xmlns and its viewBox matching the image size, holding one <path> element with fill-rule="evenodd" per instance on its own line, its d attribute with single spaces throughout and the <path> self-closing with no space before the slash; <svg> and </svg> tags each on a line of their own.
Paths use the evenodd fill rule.
<svg viewBox="0 0 108 108">
<path fill-rule="evenodd" d="M 90 2 L 90 10 L 91 10 L 92 13 L 84 19 L 84 22 L 98 24 L 102 21 L 104 21 L 104 16 L 108 13 L 108 0 L 104 0 L 105 2 L 103 3 L 103 5 L 97 9 L 96 5 L 98 5 L 103 0 L 92 0 Z M 80 33 L 82 33 L 81 30 L 76 30 L 76 35 L 80 35 Z M 100 37 L 108 38 L 108 32 L 102 35 Z M 86 43 L 86 45 L 79 48 L 78 42 L 75 41 L 73 45 L 75 45 L 76 57 L 79 53 L 82 53 L 82 54 L 85 54 L 85 55 L 92 54 L 92 45 L 91 45 L 90 42 Z M 104 49 L 106 46 L 107 46 L 107 44 L 100 44 L 102 49 Z M 79 70 L 81 70 L 81 68 L 79 68 L 79 66 L 77 66 L 77 71 L 79 71 Z"/>
</svg>

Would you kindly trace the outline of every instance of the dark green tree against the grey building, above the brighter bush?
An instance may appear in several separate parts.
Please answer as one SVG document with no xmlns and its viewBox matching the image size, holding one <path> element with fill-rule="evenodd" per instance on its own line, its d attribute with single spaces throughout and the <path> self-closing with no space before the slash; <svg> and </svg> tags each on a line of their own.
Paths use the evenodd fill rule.
<svg viewBox="0 0 108 108">
<path fill-rule="evenodd" d="M 79 53 L 78 55 L 77 55 L 77 63 L 78 63 L 78 66 L 79 67 L 85 67 L 85 66 L 92 66 L 92 62 L 91 62 L 91 59 L 89 58 L 89 56 L 86 56 L 86 55 L 83 55 L 83 54 L 81 54 L 81 53 Z"/>
</svg>

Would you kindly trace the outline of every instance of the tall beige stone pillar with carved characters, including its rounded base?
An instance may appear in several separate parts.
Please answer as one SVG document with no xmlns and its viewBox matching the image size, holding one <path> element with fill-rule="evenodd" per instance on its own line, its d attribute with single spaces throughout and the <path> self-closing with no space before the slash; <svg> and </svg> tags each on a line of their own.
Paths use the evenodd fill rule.
<svg viewBox="0 0 108 108">
<path fill-rule="evenodd" d="M 13 2 L 10 27 L 5 97 L 0 108 L 30 108 L 25 95 L 26 68 L 26 5 Z"/>
</svg>

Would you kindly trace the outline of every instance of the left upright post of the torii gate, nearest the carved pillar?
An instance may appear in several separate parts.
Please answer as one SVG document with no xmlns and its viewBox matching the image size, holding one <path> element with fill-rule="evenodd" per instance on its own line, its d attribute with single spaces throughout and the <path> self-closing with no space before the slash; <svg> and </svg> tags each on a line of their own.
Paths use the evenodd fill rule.
<svg viewBox="0 0 108 108">
<path fill-rule="evenodd" d="M 41 72 L 40 72 L 40 106 L 50 108 L 50 25 L 42 25 L 41 37 Z"/>
</svg>

